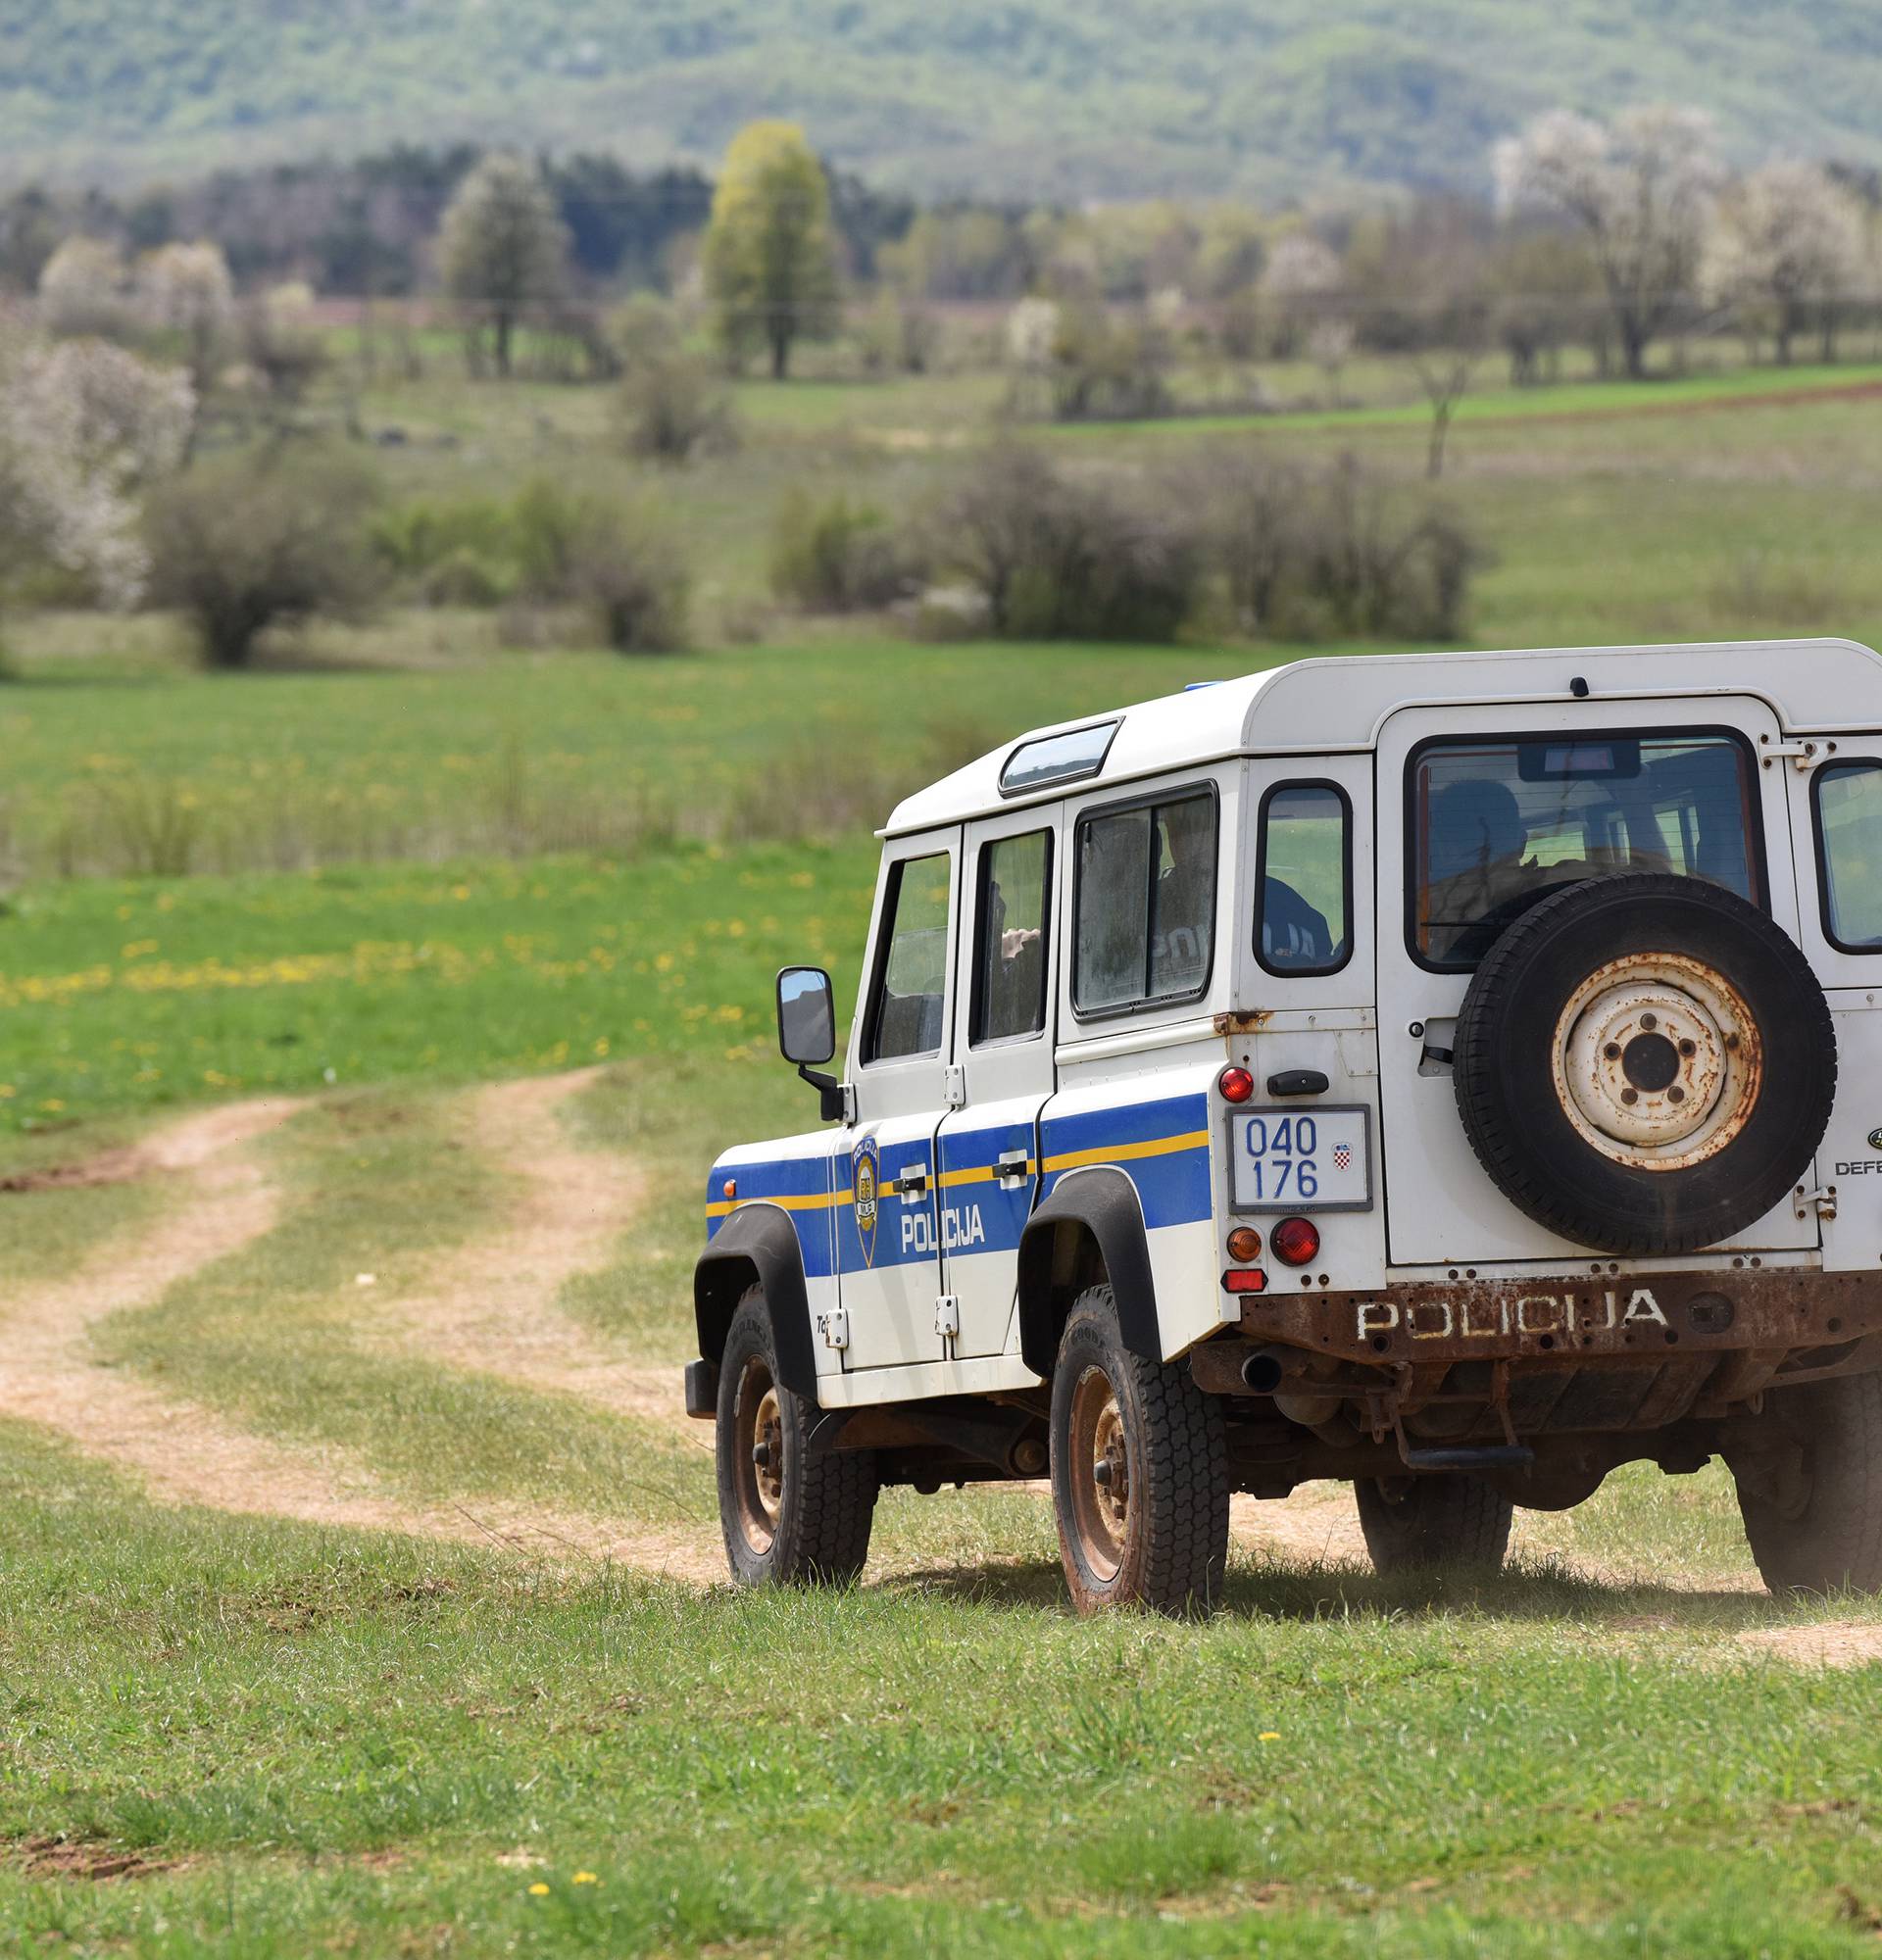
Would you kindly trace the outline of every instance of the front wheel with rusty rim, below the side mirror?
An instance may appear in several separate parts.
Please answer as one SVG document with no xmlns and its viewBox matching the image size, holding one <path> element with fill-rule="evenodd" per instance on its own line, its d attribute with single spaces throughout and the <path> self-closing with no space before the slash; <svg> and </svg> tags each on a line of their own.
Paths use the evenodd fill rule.
<svg viewBox="0 0 1882 1960">
<path fill-rule="evenodd" d="M 778 1382 L 765 1294 L 739 1299 L 719 1360 L 719 1523 L 741 1586 L 843 1586 L 868 1558 L 876 1458 L 812 1456 L 816 1409 Z"/>
</svg>

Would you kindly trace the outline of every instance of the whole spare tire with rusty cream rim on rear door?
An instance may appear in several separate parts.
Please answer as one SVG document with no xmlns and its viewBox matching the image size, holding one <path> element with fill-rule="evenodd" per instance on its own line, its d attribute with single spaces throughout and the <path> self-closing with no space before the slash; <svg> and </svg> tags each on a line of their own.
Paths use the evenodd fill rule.
<svg viewBox="0 0 1882 1960">
<path fill-rule="evenodd" d="M 1717 1245 L 1786 1200 L 1837 1084 L 1829 1004 L 1757 906 L 1623 872 L 1539 900 L 1484 955 L 1453 1047 L 1504 1196 L 1604 1252 Z"/>
</svg>

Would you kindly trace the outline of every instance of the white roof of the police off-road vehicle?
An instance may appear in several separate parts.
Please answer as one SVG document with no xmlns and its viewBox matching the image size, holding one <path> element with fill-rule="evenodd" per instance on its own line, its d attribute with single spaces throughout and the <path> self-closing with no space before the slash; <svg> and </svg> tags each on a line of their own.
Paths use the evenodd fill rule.
<svg viewBox="0 0 1882 1960">
<path fill-rule="evenodd" d="M 1568 686 L 1574 678 L 1586 680 L 1596 700 L 1757 694 L 1770 702 L 1782 727 L 1798 731 L 1882 725 L 1882 655 L 1853 639 L 1343 655 L 1027 729 L 906 798 L 878 835 L 900 837 L 1235 755 L 1370 749 L 1380 723 L 1400 708 L 1566 702 L 1574 698 Z M 1023 796 L 1000 794 L 1000 770 L 1021 743 L 1114 719 L 1117 735 L 1094 776 Z"/>
</svg>

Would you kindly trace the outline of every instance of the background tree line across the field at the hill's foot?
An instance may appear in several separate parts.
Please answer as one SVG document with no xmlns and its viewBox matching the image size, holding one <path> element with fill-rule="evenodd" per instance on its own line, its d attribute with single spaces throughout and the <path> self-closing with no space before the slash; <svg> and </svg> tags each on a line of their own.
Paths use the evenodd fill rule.
<svg viewBox="0 0 1882 1960">
<path fill-rule="evenodd" d="M 1788 157 L 1733 172 L 1696 110 L 1551 112 L 1490 163 L 1486 198 L 917 208 L 776 122 L 741 131 L 716 178 L 402 147 L 129 200 L 16 192 L 0 206 L 0 282 L 73 331 L 149 284 L 141 267 L 214 251 L 222 272 L 198 265 L 198 278 L 231 296 L 449 302 L 496 374 L 531 321 L 570 339 L 574 372 L 612 376 L 600 321 L 627 292 L 694 308 L 733 363 L 763 355 L 778 376 L 798 341 L 837 331 L 845 298 L 890 310 L 876 359 L 908 368 L 931 359 L 937 310 L 994 306 L 1010 310 L 1004 353 L 1049 378 L 1053 414 L 1145 412 L 1159 335 L 1178 329 L 1227 361 L 1306 357 L 1337 398 L 1355 351 L 1500 349 L 1521 384 L 1584 345 L 1600 370 L 1641 376 L 1657 341 L 1729 323 L 1780 363 L 1806 335 L 1833 359 L 1882 292 L 1874 172 Z M 1119 312 L 1135 351 L 1100 323 Z M 1441 398 L 1447 376 L 1427 367 Z"/>
</svg>

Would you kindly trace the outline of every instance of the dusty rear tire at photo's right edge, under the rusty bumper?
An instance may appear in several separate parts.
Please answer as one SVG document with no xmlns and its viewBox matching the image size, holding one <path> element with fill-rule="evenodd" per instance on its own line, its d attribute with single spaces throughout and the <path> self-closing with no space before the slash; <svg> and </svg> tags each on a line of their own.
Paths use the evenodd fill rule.
<svg viewBox="0 0 1882 1960">
<path fill-rule="evenodd" d="M 1770 1397 L 1782 1445 L 1737 1476 L 1745 1539 L 1764 1584 L 1882 1592 L 1882 1374 L 1808 1382 Z"/>
</svg>

